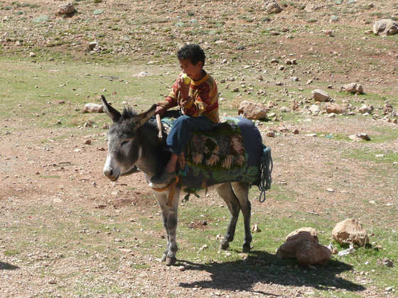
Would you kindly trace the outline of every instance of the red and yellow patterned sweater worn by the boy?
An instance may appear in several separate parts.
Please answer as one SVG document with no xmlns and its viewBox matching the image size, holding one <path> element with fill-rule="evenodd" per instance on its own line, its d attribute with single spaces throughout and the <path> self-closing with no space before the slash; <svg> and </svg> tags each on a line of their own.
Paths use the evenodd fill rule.
<svg viewBox="0 0 398 298">
<path fill-rule="evenodd" d="M 204 71 L 204 70 L 203 70 Z M 213 77 L 210 77 L 205 72 L 205 77 L 199 81 L 190 80 L 189 96 L 193 101 L 185 108 L 181 107 L 181 96 L 178 90 L 178 79 L 174 82 L 170 94 L 166 97 L 165 101 L 158 103 L 165 109 L 170 109 L 173 106 L 179 106 L 183 114 L 193 117 L 206 116 L 217 123 L 220 121 L 218 116 L 218 90 L 217 84 Z"/>
</svg>

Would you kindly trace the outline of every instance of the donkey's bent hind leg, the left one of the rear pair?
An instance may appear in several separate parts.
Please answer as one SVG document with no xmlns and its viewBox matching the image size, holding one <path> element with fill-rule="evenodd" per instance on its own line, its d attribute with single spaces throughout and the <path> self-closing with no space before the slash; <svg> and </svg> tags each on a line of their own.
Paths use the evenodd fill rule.
<svg viewBox="0 0 398 298">
<path fill-rule="evenodd" d="M 235 195 L 235 192 L 232 190 L 230 183 L 220 184 L 217 187 L 217 193 L 225 201 L 225 203 L 227 203 L 227 206 L 230 209 L 231 213 L 230 224 L 228 224 L 227 233 L 225 233 L 225 237 L 222 239 L 220 244 L 220 249 L 225 250 L 230 246 L 230 242 L 234 240 L 237 218 L 240 211 L 240 204 Z"/>
</svg>

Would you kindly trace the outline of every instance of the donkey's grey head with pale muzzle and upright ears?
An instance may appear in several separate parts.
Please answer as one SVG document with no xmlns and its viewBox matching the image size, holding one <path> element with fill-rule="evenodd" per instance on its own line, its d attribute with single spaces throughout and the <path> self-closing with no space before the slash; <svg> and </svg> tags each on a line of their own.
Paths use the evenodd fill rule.
<svg viewBox="0 0 398 298">
<path fill-rule="evenodd" d="M 129 108 L 125 108 L 123 114 L 120 114 L 107 103 L 103 95 L 101 99 L 104 111 L 113 121 L 107 133 L 108 155 L 103 171 L 110 180 L 116 181 L 120 175 L 134 172 L 134 165 L 142 154 L 139 130 L 151 116 L 154 116 L 156 104 L 141 114 L 136 114 Z"/>
</svg>

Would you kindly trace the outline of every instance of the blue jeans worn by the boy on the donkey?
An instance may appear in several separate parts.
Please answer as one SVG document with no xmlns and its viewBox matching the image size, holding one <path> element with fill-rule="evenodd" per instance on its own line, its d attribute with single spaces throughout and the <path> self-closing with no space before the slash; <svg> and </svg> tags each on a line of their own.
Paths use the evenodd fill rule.
<svg viewBox="0 0 398 298">
<path fill-rule="evenodd" d="M 184 146 L 188 143 L 192 131 L 210 131 L 214 126 L 215 123 L 205 116 L 179 116 L 174 121 L 166 139 L 168 150 L 171 153 L 180 155 Z"/>
</svg>

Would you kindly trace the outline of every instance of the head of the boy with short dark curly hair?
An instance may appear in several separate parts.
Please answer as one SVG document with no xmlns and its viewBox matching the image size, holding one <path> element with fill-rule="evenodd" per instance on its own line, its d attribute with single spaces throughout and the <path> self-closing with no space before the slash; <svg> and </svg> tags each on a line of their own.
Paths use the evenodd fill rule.
<svg viewBox="0 0 398 298">
<path fill-rule="evenodd" d="M 199 45 L 184 45 L 178 50 L 178 62 L 180 62 L 181 70 L 195 81 L 203 77 L 203 65 L 205 65 L 205 52 Z"/>
</svg>

